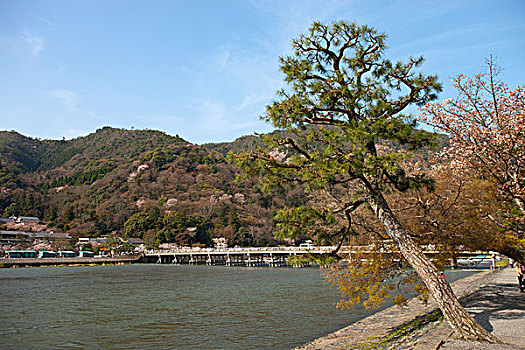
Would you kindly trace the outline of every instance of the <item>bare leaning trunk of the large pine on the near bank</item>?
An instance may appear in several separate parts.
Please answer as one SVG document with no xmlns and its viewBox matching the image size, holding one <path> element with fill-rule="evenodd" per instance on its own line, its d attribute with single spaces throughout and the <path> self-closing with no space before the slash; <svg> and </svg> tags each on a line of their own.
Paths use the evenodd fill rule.
<svg viewBox="0 0 525 350">
<path fill-rule="evenodd" d="M 403 257 L 427 286 L 456 334 L 463 339 L 500 343 L 499 339 L 477 323 L 459 303 L 448 282 L 403 229 L 383 195 L 373 194 L 369 203 Z"/>
</svg>

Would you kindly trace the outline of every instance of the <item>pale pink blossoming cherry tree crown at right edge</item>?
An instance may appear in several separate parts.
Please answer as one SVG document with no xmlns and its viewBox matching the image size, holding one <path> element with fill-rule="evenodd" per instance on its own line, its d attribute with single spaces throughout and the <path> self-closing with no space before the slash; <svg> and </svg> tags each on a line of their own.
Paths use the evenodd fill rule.
<svg viewBox="0 0 525 350">
<path fill-rule="evenodd" d="M 498 81 L 493 58 L 487 72 L 454 79 L 456 98 L 429 103 L 420 120 L 450 136 L 453 167 L 474 170 L 497 185 L 525 215 L 525 85 Z"/>
</svg>

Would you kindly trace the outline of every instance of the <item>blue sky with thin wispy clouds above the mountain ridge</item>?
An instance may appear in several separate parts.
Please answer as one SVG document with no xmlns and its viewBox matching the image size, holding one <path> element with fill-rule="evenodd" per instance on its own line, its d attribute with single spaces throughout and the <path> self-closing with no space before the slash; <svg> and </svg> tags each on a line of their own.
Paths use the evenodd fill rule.
<svg viewBox="0 0 525 350">
<path fill-rule="evenodd" d="M 278 57 L 313 21 L 386 32 L 387 56 L 423 55 L 444 84 L 495 55 L 524 83 L 525 1 L 0 0 L 0 130 L 67 139 L 102 126 L 194 143 L 272 127 Z"/>
</svg>

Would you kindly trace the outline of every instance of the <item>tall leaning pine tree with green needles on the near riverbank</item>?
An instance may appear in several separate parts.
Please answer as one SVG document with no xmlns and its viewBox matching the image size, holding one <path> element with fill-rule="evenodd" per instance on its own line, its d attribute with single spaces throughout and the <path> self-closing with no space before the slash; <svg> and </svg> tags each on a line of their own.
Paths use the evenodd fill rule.
<svg viewBox="0 0 525 350">
<path fill-rule="evenodd" d="M 403 112 L 436 98 L 441 90 L 437 77 L 416 71 L 422 57 L 406 63 L 384 58 L 385 35 L 355 23 L 314 23 L 292 43 L 294 55 L 280 59 L 288 86 L 263 117 L 283 132 L 263 137 L 266 148 L 236 157 L 248 175 L 261 177 L 263 188 L 301 184 L 328 198 L 322 206 L 282 210 L 282 232 L 293 235 L 316 222 L 330 225 L 342 218 L 347 228 L 336 234 L 344 237 L 352 232 L 355 210 L 368 207 L 457 334 L 496 342 L 463 309 L 384 197 L 386 191 L 432 186 L 403 167 L 410 151 L 433 141 Z M 404 151 L 382 147 L 385 142 Z"/>
</svg>

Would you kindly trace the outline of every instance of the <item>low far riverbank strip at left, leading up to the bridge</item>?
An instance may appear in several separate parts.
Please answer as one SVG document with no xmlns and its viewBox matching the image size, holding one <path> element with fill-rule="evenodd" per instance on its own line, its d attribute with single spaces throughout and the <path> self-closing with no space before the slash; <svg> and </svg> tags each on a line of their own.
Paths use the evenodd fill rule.
<svg viewBox="0 0 525 350">
<path fill-rule="evenodd" d="M 0 259 L 0 268 L 44 267 L 44 266 L 84 266 L 116 265 L 139 262 L 142 255 L 124 255 L 108 258 L 38 258 L 38 259 Z"/>
</svg>

